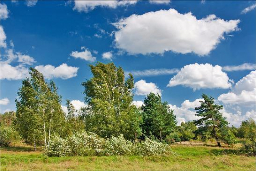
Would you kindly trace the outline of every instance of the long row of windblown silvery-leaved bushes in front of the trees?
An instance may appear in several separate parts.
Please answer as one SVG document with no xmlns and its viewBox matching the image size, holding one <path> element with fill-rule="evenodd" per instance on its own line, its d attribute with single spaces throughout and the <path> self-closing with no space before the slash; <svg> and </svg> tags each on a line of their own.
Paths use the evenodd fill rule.
<svg viewBox="0 0 256 171">
<path fill-rule="evenodd" d="M 161 155 L 171 154 L 167 144 L 162 144 L 148 138 L 145 141 L 133 143 L 123 138 L 123 135 L 111 138 L 100 138 L 94 133 L 76 133 L 67 138 L 54 135 L 50 146 L 44 154 L 56 156 L 111 156 L 111 155 Z"/>
</svg>

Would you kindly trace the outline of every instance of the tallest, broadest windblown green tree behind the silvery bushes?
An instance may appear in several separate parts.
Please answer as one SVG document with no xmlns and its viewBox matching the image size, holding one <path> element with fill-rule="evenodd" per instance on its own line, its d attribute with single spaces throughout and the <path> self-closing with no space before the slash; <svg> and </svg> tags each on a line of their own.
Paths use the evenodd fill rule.
<svg viewBox="0 0 256 171">
<path fill-rule="evenodd" d="M 90 65 L 93 77 L 82 83 L 88 104 L 82 117 L 87 131 L 102 137 L 123 134 L 127 139 L 141 135 L 140 117 L 132 104 L 133 76 L 125 80 L 121 67 L 113 63 Z"/>
</svg>

